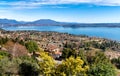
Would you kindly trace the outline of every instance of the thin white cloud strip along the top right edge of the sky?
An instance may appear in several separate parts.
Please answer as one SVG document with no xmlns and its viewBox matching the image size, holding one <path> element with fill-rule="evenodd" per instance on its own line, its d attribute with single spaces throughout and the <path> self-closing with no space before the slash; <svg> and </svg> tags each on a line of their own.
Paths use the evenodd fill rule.
<svg viewBox="0 0 120 76">
<path fill-rule="evenodd" d="M 95 5 L 120 6 L 120 0 L 31 0 L 38 4 L 80 4 L 90 3 Z"/>
</svg>

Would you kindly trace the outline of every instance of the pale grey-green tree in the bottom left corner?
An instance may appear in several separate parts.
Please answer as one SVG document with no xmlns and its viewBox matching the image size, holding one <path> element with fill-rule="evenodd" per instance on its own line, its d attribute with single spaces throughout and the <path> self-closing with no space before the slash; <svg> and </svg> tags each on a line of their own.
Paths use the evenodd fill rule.
<svg viewBox="0 0 120 76">
<path fill-rule="evenodd" d="M 0 73 L 2 76 L 10 76 L 18 74 L 20 59 L 12 59 L 5 57 L 0 60 Z"/>
</svg>

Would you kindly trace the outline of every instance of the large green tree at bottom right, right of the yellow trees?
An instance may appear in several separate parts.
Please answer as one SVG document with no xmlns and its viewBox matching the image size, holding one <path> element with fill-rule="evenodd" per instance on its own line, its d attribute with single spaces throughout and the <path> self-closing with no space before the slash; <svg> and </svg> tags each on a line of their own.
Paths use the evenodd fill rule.
<svg viewBox="0 0 120 76">
<path fill-rule="evenodd" d="M 104 53 L 97 52 L 91 60 L 88 76 L 116 76 L 114 66 Z"/>
</svg>

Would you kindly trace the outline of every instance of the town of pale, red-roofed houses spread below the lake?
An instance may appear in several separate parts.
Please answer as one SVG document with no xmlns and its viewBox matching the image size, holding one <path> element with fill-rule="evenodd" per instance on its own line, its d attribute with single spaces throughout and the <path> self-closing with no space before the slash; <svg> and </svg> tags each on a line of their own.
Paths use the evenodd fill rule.
<svg viewBox="0 0 120 76">
<path fill-rule="evenodd" d="M 70 45 L 76 50 L 79 50 L 81 47 L 90 45 L 90 42 L 97 42 L 102 44 L 103 42 L 110 42 L 111 40 L 97 37 L 88 37 L 85 35 L 72 35 L 67 33 L 58 33 L 58 32 L 40 32 L 40 31 L 0 31 L 1 38 L 9 38 L 19 41 L 36 41 L 37 45 L 44 49 L 44 51 L 52 54 L 54 58 L 59 58 L 62 55 L 62 51 L 65 45 Z M 114 41 L 115 42 L 115 41 Z M 111 46 L 112 49 L 119 51 L 120 47 L 116 48 Z M 5 48 L 4 48 L 5 49 Z M 84 48 L 85 49 L 85 48 Z M 94 48 L 89 48 L 93 50 Z M 110 56 L 111 53 L 107 53 L 107 56 Z M 117 52 L 118 56 L 120 54 Z M 112 57 L 112 56 L 111 56 Z M 114 58 L 114 57 L 113 57 Z"/>
</svg>

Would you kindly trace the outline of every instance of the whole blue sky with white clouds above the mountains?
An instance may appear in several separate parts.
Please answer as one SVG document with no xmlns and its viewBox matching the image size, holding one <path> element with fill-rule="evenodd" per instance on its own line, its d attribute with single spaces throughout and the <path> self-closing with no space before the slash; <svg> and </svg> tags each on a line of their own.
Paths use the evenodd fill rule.
<svg viewBox="0 0 120 76">
<path fill-rule="evenodd" d="M 120 0 L 0 0 L 0 18 L 120 23 Z"/>
</svg>

